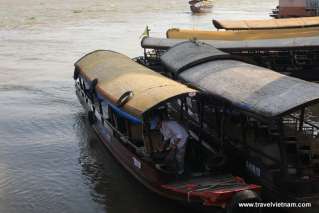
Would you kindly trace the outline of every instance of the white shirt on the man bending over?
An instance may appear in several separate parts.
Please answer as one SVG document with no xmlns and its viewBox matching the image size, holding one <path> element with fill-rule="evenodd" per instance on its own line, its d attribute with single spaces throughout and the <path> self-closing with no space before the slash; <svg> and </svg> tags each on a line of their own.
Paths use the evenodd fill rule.
<svg viewBox="0 0 319 213">
<path fill-rule="evenodd" d="M 184 146 L 188 138 L 186 130 L 176 121 L 162 121 L 160 131 L 164 136 L 164 140 L 170 140 L 171 144 L 175 144 L 179 139 L 178 148 Z"/>
</svg>

